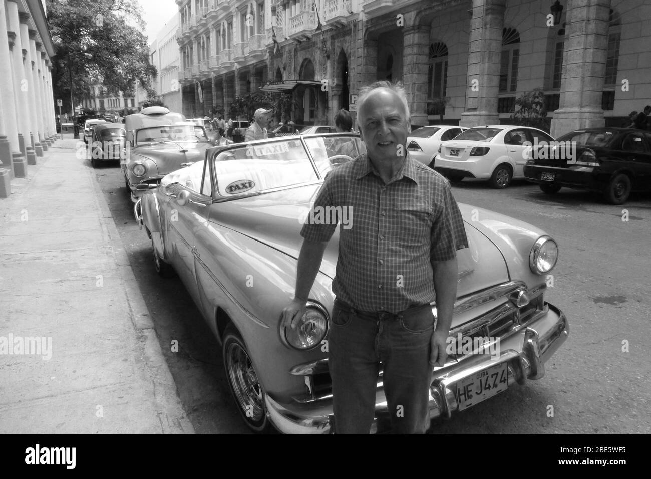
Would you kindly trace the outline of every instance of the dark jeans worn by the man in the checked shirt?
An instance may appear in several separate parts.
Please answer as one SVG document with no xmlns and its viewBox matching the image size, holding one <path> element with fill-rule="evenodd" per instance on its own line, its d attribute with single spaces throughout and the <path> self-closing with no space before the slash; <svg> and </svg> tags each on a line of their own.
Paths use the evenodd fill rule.
<svg viewBox="0 0 651 479">
<path fill-rule="evenodd" d="M 380 362 L 393 433 L 425 433 L 430 423 L 433 332 L 428 304 L 397 315 L 372 315 L 335 300 L 328 338 L 335 433 L 369 433 Z"/>
</svg>

